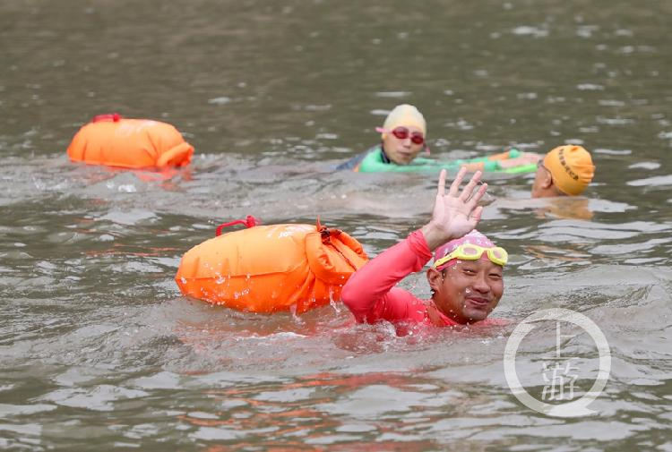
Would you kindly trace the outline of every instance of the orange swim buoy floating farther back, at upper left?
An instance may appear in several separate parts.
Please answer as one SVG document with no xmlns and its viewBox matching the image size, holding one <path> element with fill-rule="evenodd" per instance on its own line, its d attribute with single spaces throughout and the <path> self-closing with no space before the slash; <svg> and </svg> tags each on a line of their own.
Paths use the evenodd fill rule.
<svg viewBox="0 0 672 452">
<path fill-rule="evenodd" d="M 170 124 L 98 115 L 74 135 L 68 157 L 93 165 L 147 168 L 186 166 L 194 147 Z"/>
</svg>

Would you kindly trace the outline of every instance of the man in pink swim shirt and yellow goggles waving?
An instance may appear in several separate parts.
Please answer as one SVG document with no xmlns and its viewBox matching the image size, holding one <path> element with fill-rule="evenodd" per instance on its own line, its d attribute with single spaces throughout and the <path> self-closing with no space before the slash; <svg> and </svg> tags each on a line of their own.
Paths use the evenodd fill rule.
<svg viewBox="0 0 672 452">
<path fill-rule="evenodd" d="M 445 170 L 439 175 L 432 219 L 401 243 L 358 269 L 343 286 L 343 303 L 360 323 L 407 321 L 435 326 L 472 324 L 486 320 L 504 293 L 502 270 L 508 258 L 474 229 L 483 208 L 478 206 L 487 183 L 476 189 L 480 172 L 460 192 L 462 168 L 445 192 Z M 395 285 L 422 269 L 432 258 L 427 281 L 430 300 Z"/>
</svg>

